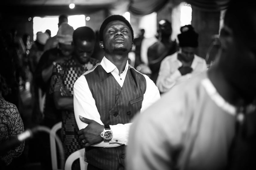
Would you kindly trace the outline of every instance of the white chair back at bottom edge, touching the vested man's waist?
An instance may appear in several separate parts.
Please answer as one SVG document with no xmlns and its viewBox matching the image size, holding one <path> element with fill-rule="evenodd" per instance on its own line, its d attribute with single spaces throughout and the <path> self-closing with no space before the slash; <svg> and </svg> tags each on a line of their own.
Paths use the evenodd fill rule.
<svg viewBox="0 0 256 170">
<path fill-rule="evenodd" d="M 84 161 L 84 151 L 85 150 L 83 148 L 83 149 L 77 150 L 77 151 L 73 152 L 72 154 L 70 154 L 66 160 L 64 170 L 71 170 L 73 162 L 78 158 L 80 161 L 80 169 L 86 170 L 88 163 Z"/>
</svg>

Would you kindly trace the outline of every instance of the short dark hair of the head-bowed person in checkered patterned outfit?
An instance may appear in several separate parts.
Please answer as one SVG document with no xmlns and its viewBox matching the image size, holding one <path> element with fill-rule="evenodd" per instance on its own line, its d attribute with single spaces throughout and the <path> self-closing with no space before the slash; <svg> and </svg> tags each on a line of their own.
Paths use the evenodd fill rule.
<svg viewBox="0 0 256 170">
<path fill-rule="evenodd" d="M 76 40 L 96 41 L 95 31 L 88 26 L 79 27 L 73 32 L 73 43 L 76 43 Z"/>
</svg>

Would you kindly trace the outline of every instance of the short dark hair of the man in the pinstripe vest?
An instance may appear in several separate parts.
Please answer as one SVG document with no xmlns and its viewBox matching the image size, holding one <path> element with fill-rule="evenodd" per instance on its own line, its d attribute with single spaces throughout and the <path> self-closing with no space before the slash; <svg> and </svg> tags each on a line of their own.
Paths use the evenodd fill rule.
<svg viewBox="0 0 256 170">
<path fill-rule="evenodd" d="M 127 21 L 125 19 L 125 17 L 123 17 L 122 15 L 111 15 L 103 21 L 103 23 L 101 24 L 100 30 L 99 30 L 99 41 L 103 41 L 103 31 L 106 28 L 106 26 L 108 25 L 108 23 L 110 23 L 112 21 L 122 21 L 122 22 L 124 22 L 129 27 L 129 29 L 131 31 L 132 41 L 133 41 L 133 39 L 134 39 L 133 28 L 132 28 L 131 24 L 129 23 L 129 21 Z"/>
</svg>

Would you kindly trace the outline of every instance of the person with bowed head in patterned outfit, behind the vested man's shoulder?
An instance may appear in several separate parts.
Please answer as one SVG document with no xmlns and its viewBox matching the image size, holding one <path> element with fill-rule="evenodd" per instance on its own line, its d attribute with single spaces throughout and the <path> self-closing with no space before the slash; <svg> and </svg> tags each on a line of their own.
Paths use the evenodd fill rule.
<svg viewBox="0 0 256 170">
<path fill-rule="evenodd" d="M 91 58 L 95 41 L 95 32 L 90 27 L 77 28 L 73 33 L 72 57 L 56 63 L 53 68 L 49 94 L 53 94 L 55 106 L 62 114 L 61 141 L 65 160 L 71 153 L 83 148 L 74 115 L 73 84 L 78 77 L 98 63 L 98 60 Z M 73 163 L 72 170 L 80 170 L 79 160 Z"/>
</svg>

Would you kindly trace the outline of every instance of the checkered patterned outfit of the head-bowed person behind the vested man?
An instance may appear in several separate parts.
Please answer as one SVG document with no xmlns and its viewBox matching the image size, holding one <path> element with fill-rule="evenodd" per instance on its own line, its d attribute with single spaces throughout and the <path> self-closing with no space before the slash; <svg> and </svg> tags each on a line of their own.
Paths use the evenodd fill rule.
<svg viewBox="0 0 256 170">
<path fill-rule="evenodd" d="M 73 85 L 75 81 L 84 72 L 96 65 L 96 63 L 98 63 L 98 60 L 91 58 L 86 64 L 81 65 L 71 58 L 66 62 L 56 64 L 53 68 L 49 93 L 60 92 L 62 88 L 68 93 L 68 96 L 73 96 Z M 78 130 L 74 112 L 62 111 L 61 141 L 64 148 L 65 160 L 71 153 L 83 148 L 77 135 Z M 72 170 L 80 170 L 79 160 L 73 163 Z"/>
</svg>

